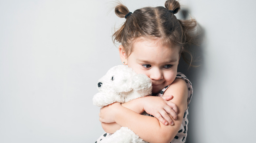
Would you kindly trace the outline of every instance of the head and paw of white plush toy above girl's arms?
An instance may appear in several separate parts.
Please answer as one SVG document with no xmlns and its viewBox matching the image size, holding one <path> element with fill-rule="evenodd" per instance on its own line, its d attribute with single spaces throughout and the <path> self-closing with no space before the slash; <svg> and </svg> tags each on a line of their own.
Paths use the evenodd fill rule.
<svg viewBox="0 0 256 143">
<path fill-rule="evenodd" d="M 114 102 L 125 103 L 152 93 L 150 78 L 124 65 L 111 68 L 98 80 L 98 85 L 99 92 L 94 95 L 93 104 L 99 107 Z"/>
</svg>

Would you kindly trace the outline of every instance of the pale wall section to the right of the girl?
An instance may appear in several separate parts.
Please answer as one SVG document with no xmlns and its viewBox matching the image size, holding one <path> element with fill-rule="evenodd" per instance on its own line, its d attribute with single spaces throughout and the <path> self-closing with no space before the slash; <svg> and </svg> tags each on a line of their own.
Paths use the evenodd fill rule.
<svg viewBox="0 0 256 143">
<path fill-rule="evenodd" d="M 188 2 L 206 35 L 203 70 L 190 108 L 191 142 L 255 142 L 255 4 Z"/>
</svg>

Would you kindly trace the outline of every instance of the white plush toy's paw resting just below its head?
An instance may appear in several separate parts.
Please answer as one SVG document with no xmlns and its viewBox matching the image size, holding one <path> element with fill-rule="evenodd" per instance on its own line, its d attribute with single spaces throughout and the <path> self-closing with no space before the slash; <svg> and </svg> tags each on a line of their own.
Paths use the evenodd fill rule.
<svg viewBox="0 0 256 143">
<path fill-rule="evenodd" d="M 122 103 L 124 99 L 118 95 L 113 94 L 106 94 L 103 92 L 96 93 L 93 97 L 93 104 L 99 107 L 103 107 L 114 102 Z"/>
</svg>

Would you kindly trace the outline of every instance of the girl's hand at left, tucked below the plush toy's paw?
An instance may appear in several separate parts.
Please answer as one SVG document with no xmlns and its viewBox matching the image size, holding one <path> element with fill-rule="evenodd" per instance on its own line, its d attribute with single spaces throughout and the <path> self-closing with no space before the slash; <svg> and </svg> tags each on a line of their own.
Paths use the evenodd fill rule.
<svg viewBox="0 0 256 143">
<path fill-rule="evenodd" d="M 120 103 L 115 102 L 110 105 L 104 106 L 99 110 L 99 121 L 104 123 L 112 123 L 115 117 L 115 110 L 121 106 Z"/>
</svg>

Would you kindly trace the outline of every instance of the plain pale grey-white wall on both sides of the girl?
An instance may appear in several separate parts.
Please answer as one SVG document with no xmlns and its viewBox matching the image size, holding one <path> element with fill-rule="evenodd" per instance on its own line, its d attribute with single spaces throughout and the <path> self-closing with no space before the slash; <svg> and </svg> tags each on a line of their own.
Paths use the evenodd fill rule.
<svg viewBox="0 0 256 143">
<path fill-rule="evenodd" d="M 123 0 L 130 11 L 164 0 Z M 253 1 L 183 0 L 205 30 L 188 142 L 253 142 Z M 121 64 L 110 2 L 0 2 L 0 142 L 95 142 L 96 81 Z M 198 76 L 200 75 L 200 76 Z"/>
</svg>

